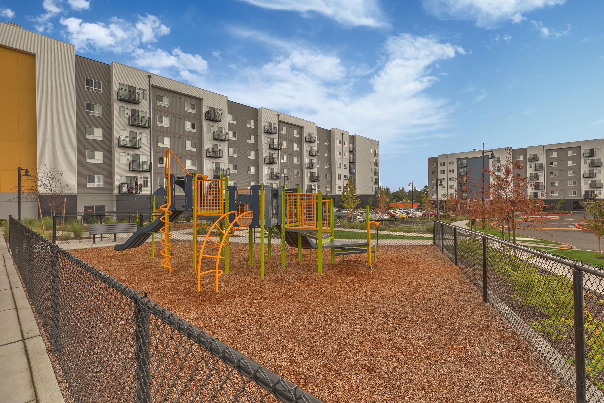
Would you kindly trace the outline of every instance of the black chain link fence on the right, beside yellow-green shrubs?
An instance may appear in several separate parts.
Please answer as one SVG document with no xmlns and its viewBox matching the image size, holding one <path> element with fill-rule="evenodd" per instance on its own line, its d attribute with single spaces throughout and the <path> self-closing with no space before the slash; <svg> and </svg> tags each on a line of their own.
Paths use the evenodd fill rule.
<svg viewBox="0 0 604 403">
<path fill-rule="evenodd" d="M 604 402 L 604 271 L 437 222 L 434 243 L 554 370 Z"/>
</svg>

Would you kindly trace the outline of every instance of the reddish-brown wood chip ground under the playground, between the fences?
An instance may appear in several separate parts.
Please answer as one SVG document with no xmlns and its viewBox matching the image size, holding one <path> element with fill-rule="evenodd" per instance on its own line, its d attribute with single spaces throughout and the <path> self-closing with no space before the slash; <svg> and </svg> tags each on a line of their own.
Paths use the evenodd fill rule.
<svg viewBox="0 0 604 403">
<path fill-rule="evenodd" d="M 316 251 L 305 250 L 285 282 L 268 259 L 260 279 L 259 245 L 249 266 L 248 245 L 232 244 L 230 273 L 214 294 L 208 274 L 197 291 L 192 243 L 173 243 L 172 273 L 150 259 L 150 243 L 124 256 L 72 253 L 326 403 L 574 400 L 432 245 L 379 247 L 371 271 L 364 255 L 332 264 L 325 253 L 322 275 Z"/>
</svg>

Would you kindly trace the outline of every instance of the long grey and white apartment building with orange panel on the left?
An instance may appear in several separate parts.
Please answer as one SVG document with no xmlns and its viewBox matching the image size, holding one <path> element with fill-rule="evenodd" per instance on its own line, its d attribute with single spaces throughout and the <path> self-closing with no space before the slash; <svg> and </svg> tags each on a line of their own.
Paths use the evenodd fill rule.
<svg viewBox="0 0 604 403">
<path fill-rule="evenodd" d="M 0 101 L 9 122 L 0 131 L 2 217 L 16 214 L 18 166 L 60 171 L 68 211 L 146 211 L 166 185 L 167 151 L 180 163 L 172 160 L 173 173 L 182 164 L 240 188 L 299 186 L 338 202 L 352 178 L 361 198 L 378 193 L 376 140 L 77 56 L 73 45 L 15 24 L 0 23 L 0 66 L 13 95 Z M 26 216 L 36 210 L 24 205 Z"/>
</svg>

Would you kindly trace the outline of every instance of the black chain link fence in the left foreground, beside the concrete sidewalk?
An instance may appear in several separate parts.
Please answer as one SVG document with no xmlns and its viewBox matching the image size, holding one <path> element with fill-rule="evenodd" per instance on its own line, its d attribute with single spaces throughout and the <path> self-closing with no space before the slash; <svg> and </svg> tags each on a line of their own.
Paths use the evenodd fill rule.
<svg viewBox="0 0 604 403">
<path fill-rule="evenodd" d="M 320 402 L 10 218 L 10 248 L 77 402 Z"/>
</svg>

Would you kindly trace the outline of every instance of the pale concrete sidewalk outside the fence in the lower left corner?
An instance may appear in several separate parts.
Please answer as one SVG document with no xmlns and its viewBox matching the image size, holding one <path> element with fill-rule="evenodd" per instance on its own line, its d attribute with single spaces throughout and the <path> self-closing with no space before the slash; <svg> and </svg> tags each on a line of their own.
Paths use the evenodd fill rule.
<svg viewBox="0 0 604 403">
<path fill-rule="evenodd" d="M 63 403 L 4 236 L 0 236 L 0 328 L 0 402 Z"/>
</svg>

